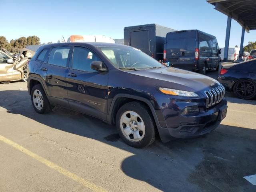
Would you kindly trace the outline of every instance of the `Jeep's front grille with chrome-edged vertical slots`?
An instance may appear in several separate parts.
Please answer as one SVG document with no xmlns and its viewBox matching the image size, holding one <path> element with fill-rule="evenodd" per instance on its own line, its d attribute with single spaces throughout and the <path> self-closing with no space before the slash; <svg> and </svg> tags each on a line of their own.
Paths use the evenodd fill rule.
<svg viewBox="0 0 256 192">
<path fill-rule="evenodd" d="M 206 94 L 206 108 L 218 104 L 225 97 L 225 88 L 223 85 L 204 91 Z"/>
</svg>

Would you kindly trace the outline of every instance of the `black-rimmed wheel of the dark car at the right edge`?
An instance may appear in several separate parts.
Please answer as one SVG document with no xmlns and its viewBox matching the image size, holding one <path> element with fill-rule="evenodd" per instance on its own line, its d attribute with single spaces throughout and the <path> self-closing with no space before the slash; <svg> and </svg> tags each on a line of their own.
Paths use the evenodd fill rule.
<svg viewBox="0 0 256 192">
<path fill-rule="evenodd" d="M 244 90 L 244 88 L 246 89 Z M 238 80 L 234 84 L 233 92 L 240 99 L 254 99 L 256 98 L 256 83 L 248 79 Z"/>
</svg>

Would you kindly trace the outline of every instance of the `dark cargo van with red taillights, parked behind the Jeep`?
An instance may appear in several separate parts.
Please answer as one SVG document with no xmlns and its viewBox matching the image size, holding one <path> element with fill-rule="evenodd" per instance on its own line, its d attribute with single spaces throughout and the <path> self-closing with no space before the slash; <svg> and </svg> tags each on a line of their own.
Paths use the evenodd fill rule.
<svg viewBox="0 0 256 192">
<path fill-rule="evenodd" d="M 164 61 L 176 68 L 199 71 L 216 69 L 221 62 L 215 36 L 199 30 L 183 30 L 166 34 Z"/>
</svg>

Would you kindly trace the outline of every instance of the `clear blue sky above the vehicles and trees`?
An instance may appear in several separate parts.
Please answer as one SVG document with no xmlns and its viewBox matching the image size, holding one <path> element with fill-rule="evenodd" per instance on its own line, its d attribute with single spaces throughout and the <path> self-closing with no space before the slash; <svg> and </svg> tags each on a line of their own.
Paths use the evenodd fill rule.
<svg viewBox="0 0 256 192">
<path fill-rule="evenodd" d="M 198 29 L 224 47 L 227 16 L 206 0 L 0 0 L 0 36 L 7 40 L 36 35 L 41 43 L 72 34 L 124 38 L 124 27 L 156 23 L 176 30 Z M 230 47 L 240 46 L 242 27 L 232 20 Z M 244 44 L 256 41 L 256 30 Z"/>
</svg>

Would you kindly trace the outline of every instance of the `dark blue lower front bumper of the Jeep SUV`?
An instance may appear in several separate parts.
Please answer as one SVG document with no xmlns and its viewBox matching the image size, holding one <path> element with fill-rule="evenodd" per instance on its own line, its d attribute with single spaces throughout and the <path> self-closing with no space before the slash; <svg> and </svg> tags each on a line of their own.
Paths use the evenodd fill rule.
<svg viewBox="0 0 256 192">
<path fill-rule="evenodd" d="M 158 132 L 162 142 L 168 142 L 174 138 L 195 138 L 208 134 L 215 130 L 223 117 L 222 110 L 227 108 L 226 100 L 222 100 L 216 106 L 208 109 L 206 112 L 198 116 L 182 116 L 179 117 L 179 126 L 170 128 L 171 119 L 168 120 L 167 126 L 164 128 L 158 126 Z M 226 116 L 226 114 L 224 114 Z M 173 119 L 175 120 L 175 118 Z M 176 120 L 178 120 L 176 118 Z M 173 123 L 175 124 L 175 123 Z"/>
</svg>

